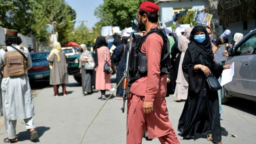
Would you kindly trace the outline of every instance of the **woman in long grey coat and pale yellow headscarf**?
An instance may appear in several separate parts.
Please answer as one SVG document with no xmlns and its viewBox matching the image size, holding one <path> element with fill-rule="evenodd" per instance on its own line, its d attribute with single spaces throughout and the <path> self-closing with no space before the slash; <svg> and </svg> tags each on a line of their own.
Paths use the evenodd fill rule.
<svg viewBox="0 0 256 144">
<path fill-rule="evenodd" d="M 67 95 L 68 68 L 65 52 L 61 50 L 59 42 L 53 44 L 53 49 L 48 55 L 50 62 L 50 84 L 53 85 L 54 96 L 59 96 L 59 87 L 62 86 L 63 96 Z"/>
</svg>

